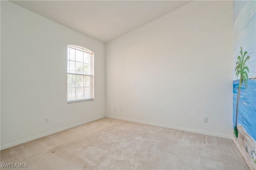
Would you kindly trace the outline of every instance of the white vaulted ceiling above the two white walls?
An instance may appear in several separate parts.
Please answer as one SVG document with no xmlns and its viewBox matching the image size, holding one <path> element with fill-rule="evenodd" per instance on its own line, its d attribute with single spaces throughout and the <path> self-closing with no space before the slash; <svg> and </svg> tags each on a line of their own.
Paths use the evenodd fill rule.
<svg viewBox="0 0 256 170">
<path fill-rule="evenodd" d="M 190 1 L 11 0 L 10 2 L 107 43 Z"/>
</svg>

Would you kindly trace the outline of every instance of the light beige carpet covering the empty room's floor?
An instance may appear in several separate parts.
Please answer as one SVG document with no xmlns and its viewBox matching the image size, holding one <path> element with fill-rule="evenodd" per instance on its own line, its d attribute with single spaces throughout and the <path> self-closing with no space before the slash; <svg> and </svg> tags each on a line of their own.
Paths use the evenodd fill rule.
<svg viewBox="0 0 256 170">
<path fill-rule="evenodd" d="M 2 163 L 27 163 L 2 168 Z M 234 142 L 103 118 L 1 150 L 1 169 L 223 169 L 245 170 Z"/>
</svg>

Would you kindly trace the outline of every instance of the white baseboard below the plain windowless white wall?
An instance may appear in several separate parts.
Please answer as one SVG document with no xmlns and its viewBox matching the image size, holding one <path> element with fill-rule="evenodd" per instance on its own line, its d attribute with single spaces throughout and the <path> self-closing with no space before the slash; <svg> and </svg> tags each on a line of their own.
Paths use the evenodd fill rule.
<svg viewBox="0 0 256 170">
<path fill-rule="evenodd" d="M 138 120 L 134 120 L 134 119 L 126 119 L 126 118 L 116 117 L 116 116 L 106 115 L 106 117 L 113 118 L 113 119 L 125 120 L 125 121 L 132 121 L 132 122 L 136 122 L 136 123 L 143 123 L 143 124 L 147 124 L 147 125 L 155 125 L 155 126 L 160 126 L 160 127 L 167 127 L 167 128 L 170 128 L 170 129 L 176 129 L 176 130 L 180 130 L 180 131 L 199 133 L 199 134 L 202 134 L 202 135 L 222 137 L 222 138 L 231 139 L 231 140 L 233 139 L 232 135 L 224 135 L 224 134 L 220 134 L 220 133 L 212 133 L 212 132 L 207 132 L 207 131 L 198 131 L 196 129 L 188 129 L 188 128 L 184 128 L 184 127 L 163 125 L 163 124 L 152 123 L 152 122 L 147 122 L 147 121 L 138 121 Z"/>
</svg>

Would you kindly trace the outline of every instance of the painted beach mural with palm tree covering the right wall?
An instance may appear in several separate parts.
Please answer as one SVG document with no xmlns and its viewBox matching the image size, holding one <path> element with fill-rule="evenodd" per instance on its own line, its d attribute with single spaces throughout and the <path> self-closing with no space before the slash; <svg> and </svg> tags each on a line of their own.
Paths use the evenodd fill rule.
<svg viewBox="0 0 256 170">
<path fill-rule="evenodd" d="M 234 143 L 256 170 L 256 1 L 233 4 Z"/>
</svg>

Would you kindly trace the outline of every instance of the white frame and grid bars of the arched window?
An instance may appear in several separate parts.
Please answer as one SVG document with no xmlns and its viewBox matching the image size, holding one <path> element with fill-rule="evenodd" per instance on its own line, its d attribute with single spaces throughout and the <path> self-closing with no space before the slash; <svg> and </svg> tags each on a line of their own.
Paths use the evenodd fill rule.
<svg viewBox="0 0 256 170">
<path fill-rule="evenodd" d="M 73 49 L 75 50 L 75 54 L 74 54 L 74 60 L 70 59 L 70 49 Z M 76 60 L 76 52 L 77 51 L 82 51 L 83 52 L 83 61 L 77 61 Z M 84 53 L 88 53 L 90 54 L 90 64 L 88 63 L 85 63 L 84 61 Z M 70 66 L 70 63 L 75 63 L 75 66 L 71 67 Z M 90 74 L 86 74 L 84 73 L 81 73 L 81 72 L 77 72 L 76 71 L 76 64 L 83 64 L 83 68 L 84 69 L 84 65 L 90 65 Z M 74 69 L 74 70 L 72 70 Z M 75 77 L 75 80 L 71 83 L 72 86 L 70 86 L 70 83 L 68 82 L 69 80 L 69 76 L 73 75 L 72 78 Z M 77 76 L 80 76 L 80 77 L 83 77 L 83 86 L 77 86 Z M 86 93 L 85 91 L 85 88 L 89 88 L 89 86 L 86 86 L 85 84 L 85 77 L 90 77 L 90 92 L 89 93 Z M 74 83 L 75 82 L 75 83 Z M 77 89 L 78 88 L 82 88 L 83 87 L 83 93 L 80 91 L 80 94 L 83 94 L 83 97 L 81 98 L 78 98 L 77 97 Z M 75 92 L 71 92 L 72 90 L 75 89 Z M 85 97 L 85 96 L 88 96 L 89 97 Z M 81 96 L 81 95 L 80 95 Z M 75 103 L 75 102 L 84 102 L 84 101 L 92 101 L 94 100 L 94 53 L 84 47 L 80 47 L 80 46 L 77 46 L 77 45 L 68 45 L 67 47 L 67 102 L 68 103 Z"/>
</svg>

